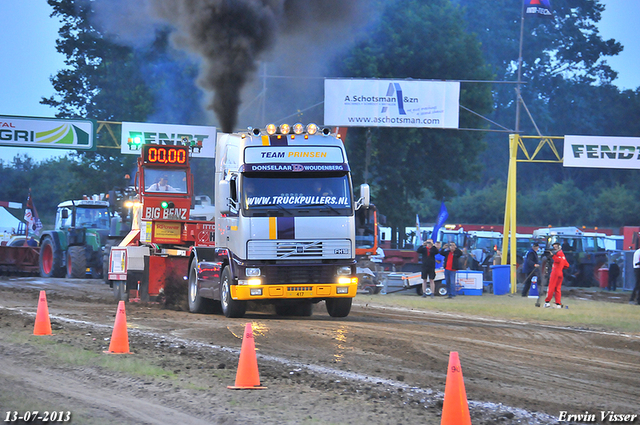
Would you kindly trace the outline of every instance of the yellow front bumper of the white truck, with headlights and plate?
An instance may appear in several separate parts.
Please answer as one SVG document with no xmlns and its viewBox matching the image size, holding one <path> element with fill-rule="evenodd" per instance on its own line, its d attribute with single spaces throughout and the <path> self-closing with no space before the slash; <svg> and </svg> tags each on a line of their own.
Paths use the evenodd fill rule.
<svg viewBox="0 0 640 425">
<path fill-rule="evenodd" d="M 339 294 L 338 288 L 348 289 L 346 293 Z M 230 289 L 231 298 L 234 300 L 353 298 L 356 296 L 358 283 L 356 281 L 348 284 L 232 285 Z M 257 291 L 258 289 L 262 291 Z"/>
</svg>

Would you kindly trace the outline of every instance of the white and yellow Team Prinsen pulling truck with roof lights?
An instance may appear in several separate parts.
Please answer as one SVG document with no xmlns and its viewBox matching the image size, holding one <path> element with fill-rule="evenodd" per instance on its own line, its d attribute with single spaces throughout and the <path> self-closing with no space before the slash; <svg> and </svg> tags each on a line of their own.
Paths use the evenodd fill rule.
<svg viewBox="0 0 640 425">
<path fill-rule="evenodd" d="M 328 129 L 220 134 L 215 242 L 191 248 L 190 311 L 220 301 L 225 316 L 242 317 L 256 301 L 310 316 L 324 301 L 332 317 L 347 316 L 358 288 L 355 210 L 369 205 L 368 186 L 358 201 L 352 187 L 343 143 Z"/>
</svg>

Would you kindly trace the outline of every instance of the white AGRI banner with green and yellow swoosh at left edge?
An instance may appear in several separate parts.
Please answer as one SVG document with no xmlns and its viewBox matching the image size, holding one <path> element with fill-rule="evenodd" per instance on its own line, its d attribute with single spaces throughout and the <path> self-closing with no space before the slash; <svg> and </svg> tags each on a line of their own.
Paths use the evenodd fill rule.
<svg viewBox="0 0 640 425">
<path fill-rule="evenodd" d="M 0 145 L 95 150 L 95 121 L 0 115 Z"/>
</svg>

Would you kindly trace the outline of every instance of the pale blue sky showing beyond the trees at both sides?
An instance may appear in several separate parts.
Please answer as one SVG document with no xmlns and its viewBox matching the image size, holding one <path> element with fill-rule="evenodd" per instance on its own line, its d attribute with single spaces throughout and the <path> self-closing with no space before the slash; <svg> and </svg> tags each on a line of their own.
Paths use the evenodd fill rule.
<svg viewBox="0 0 640 425">
<path fill-rule="evenodd" d="M 624 51 L 607 62 L 619 72 L 614 81 L 621 89 L 640 87 L 640 0 L 602 0 L 606 10 L 598 27 L 606 40 L 614 38 Z M 553 2 L 551 3 L 553 5 Z M 0 0 L 0 115 L 53 117 L 55 110 L 40 104 L 54 94 L 50 77 L 64 67 L 56 52 L 60 22 L 51 18 L 45 0 Z M 65 155 L 68 151 L 0 146 L 0 159 L 11 162 L 18 153 L 36 161 Z"/>
</svg>

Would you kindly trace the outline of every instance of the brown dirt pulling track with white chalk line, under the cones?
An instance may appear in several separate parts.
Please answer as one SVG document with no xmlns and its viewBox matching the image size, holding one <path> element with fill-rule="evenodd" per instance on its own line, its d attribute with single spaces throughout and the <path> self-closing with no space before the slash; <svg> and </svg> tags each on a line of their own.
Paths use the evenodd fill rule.
<svg viewBox="0 0 640 425">
<path fill-rule="evenodd" d="M 41 289 L 54 336 L 31 335 Z M 108 286 L 5 278 L 0 414 L 19 405 L 69 410 L 78 424 L 439 424 L 450 351 L 460 355 L 474 424 L 556 423 L 561 411 L 598 419 L 600 411 L 639 413 L 639 335 L 428 309 L 445 302 L 406 310 L 356 298 L 342 320 L 329 317 L 322 303 L 311 318 L 250 312 L 240 320 L 127 304 L 135 355 L 112 360 L 101 354 L 116 311 Z M 268 390 L 226 388 L 235 380 L 247 322 Z M 74 365 L 64 354 L 72 349 L 58 347 L 99 355 Z M 105 365 L 104 357 L 116 365 Z M 166 373 L 114 371 L 127 358 Z"/>
</svg>

